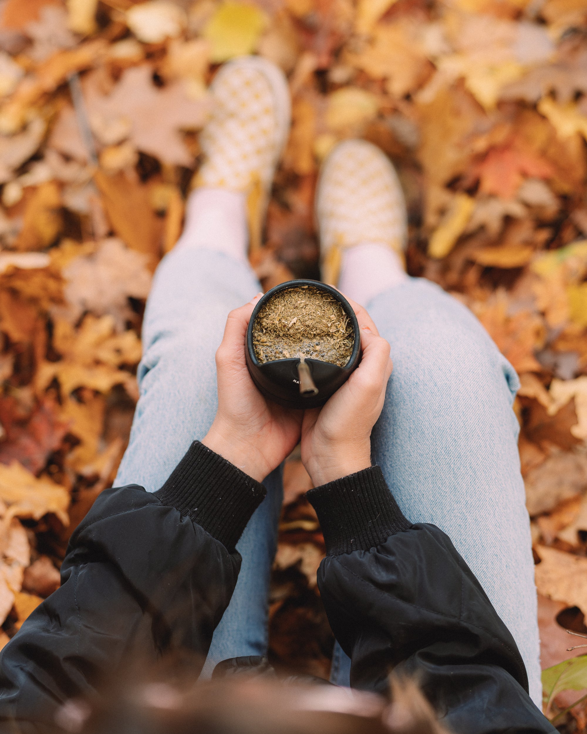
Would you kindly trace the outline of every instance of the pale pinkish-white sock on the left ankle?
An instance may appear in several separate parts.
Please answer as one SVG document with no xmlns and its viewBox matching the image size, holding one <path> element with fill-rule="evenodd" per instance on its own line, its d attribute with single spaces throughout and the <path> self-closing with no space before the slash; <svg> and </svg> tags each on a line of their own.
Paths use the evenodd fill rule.
<svg viewBox="0 0 587 734">
<path fill-rule="evenodd" d="M 186 224 L 176 247 L 202 247 L 247 262 L 247 195 L 226 189 L 195 189 L 186 205 Z"/>
</svg>

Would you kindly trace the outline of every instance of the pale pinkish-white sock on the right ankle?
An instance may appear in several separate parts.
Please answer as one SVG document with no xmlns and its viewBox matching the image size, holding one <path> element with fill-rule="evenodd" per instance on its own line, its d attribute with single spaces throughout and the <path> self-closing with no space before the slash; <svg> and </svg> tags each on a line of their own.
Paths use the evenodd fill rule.
<svg viewBox="0 0 587 734">
<path fill-rule="evenodd" d="M 404 280 L 401 259 L 384 244 L 366 242 L 343 250 L 338 290 L 361 305 Z"/>
</svg>

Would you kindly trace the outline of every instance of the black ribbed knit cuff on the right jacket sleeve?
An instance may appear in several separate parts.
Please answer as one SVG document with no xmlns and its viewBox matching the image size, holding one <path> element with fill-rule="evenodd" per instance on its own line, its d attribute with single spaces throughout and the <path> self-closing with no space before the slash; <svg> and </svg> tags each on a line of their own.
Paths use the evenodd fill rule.
<svg viewBox="0 0 587 734">
<path fill-rule="evenodd" d="M 329 556 L 368 551 L 412 523 L 401 514 L 378 466 L 310 490 Z"/>
</svg>

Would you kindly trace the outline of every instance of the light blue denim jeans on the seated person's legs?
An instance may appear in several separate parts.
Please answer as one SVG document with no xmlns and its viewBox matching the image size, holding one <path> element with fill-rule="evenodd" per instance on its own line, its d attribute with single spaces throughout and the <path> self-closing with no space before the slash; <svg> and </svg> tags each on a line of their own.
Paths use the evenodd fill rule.
<svg viewBox="0 0 587 734">
<path fill-rule="evenodd" d="M 222 252 L 178 244 L 158 266 L 145 312 L 140 399 L 117 486 L 158 490 L 208 432 L 227 313 L 259 290 L 249 265 Z M 373 461 L 409 520 L 451 537 L 516 639 L 540 705 L 530 526 L 511 410 L 517 375 L 475 316 L 426 280 L 410 278 L 366 306 L 394 363 Z M 266 479 L 266 500 L 238 542 L 241 574 L 203 675 L 225 658 L 266 653 L 281 479 L 280 470 Z M 349 664 L 337 646 L 332 680 L 348 685 Z"/>
</svg>

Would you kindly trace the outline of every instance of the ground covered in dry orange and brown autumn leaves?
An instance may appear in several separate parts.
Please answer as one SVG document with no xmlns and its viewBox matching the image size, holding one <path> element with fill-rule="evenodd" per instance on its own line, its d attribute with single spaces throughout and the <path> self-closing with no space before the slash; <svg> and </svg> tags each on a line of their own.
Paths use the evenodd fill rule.
<svg viewBox="0 0 587 734">
<path fill-rule="evenodd" d="M 381 146 L 406 193 L 409 272 L 469 306 L 520 374 L 543 665 L 566 658 L 563 627 L 587 631 L 587 0 L 0 0 L 0 49 L 0 644 L 59 584 L 114 478 L 206 89 L 256 51 L 293 98 L 263 285 L 318 277 L 332 145 Z M 309 487 L 291 457 L 271 655 L 327 675 Z M 585 711 L 567 724 L 585 730 Z"/>
</svg>

